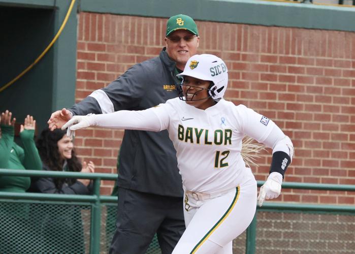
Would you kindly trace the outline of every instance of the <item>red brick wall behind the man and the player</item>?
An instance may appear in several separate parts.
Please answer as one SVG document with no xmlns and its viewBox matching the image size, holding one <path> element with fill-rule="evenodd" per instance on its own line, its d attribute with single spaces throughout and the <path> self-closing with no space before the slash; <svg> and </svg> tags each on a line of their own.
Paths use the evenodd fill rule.
<svg viewBox="0 0 355 254">
<path fill-rule="evenodd" d="M 197 22 L 199 53 L 229 68 L 228 100 L 273 119 L 296 154 L 285 181 L 355 183 L 355 34 L 343 31 Z M 166 19 L 79 13 L 76 100 L 108 85 L 164 46 Z M 115 173 L 122 131 L 90 129 L 78 152 L 97 172 Z M 271 151 L 253 172 L 265 180 Z M 112 182 L 104 182 L 109 194 Z M 351 193 L 284 190 L 278 199 L 355 204 Z"/>
</svg>

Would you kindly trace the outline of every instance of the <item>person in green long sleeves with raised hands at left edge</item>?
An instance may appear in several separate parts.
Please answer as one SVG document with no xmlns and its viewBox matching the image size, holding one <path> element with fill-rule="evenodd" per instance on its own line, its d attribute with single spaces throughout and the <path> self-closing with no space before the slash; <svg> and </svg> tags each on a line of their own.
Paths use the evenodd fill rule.
<svg viewBox="0 0 355 254">
<path fill-rule="evenodd" d="M 8 110 L 1 114 L 0 168 L 41 170 L 42 162 L 34 141 L 36 120 L 27 115 L 20 126 L 23 148 L 14 141 L 15 121 Z M 0 175 L 0 192 L 24 193 L 29 186 L 30 177 Z M 28 253 L 35 247 L 35 239 L 28 237 L 33 229 L 30 216 L 27 203 L 0 203 L 0 253 Z"/>
</svg>

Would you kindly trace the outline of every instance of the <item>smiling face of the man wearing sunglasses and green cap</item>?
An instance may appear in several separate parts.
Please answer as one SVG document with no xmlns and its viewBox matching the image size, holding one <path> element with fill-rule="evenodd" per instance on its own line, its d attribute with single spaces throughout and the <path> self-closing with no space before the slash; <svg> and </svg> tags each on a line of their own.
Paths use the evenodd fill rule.
<svg viewBox="0 0 355 254">
<path fill-rule="evenodd" d="M 184 29 L 176 30 L 165 38 L 167 53 L 176 61 L 178 69 L 183 70 L 188 58 L 196 54 L 199 40 L 200 37 Z"/>
</svg>

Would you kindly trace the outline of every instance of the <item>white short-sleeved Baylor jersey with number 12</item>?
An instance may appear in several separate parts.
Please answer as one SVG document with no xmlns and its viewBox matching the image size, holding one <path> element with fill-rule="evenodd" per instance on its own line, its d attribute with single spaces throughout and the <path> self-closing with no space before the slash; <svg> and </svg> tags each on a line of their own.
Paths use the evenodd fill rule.
<svg viewBox="0 0 355 254">
<path fill-rule="evenodd" d="M 153 112 L 160 130 L 169 131 L 184 188 L 201 193 L 235 188 L 245 170 L 240 153 L 243 137 L 263 142 L 275 125 L 252 109 L 223 99 L 201 110 L 175 98 Z"/>
</svg>

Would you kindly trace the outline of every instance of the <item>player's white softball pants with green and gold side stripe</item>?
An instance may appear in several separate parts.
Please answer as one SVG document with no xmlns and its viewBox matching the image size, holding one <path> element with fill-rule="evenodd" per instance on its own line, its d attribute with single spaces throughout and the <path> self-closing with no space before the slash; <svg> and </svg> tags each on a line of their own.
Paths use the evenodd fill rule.
<svg viewBox="0 0 355 254">
<path fill-rule="evenodd" d="M 256 210 L 256 180 L 249 168 L 239 186 L 220 194 L 185 192 L 186 230 L 173 254 L 232 254 L 232 241 L 250 225 Z"/>
</svg>

